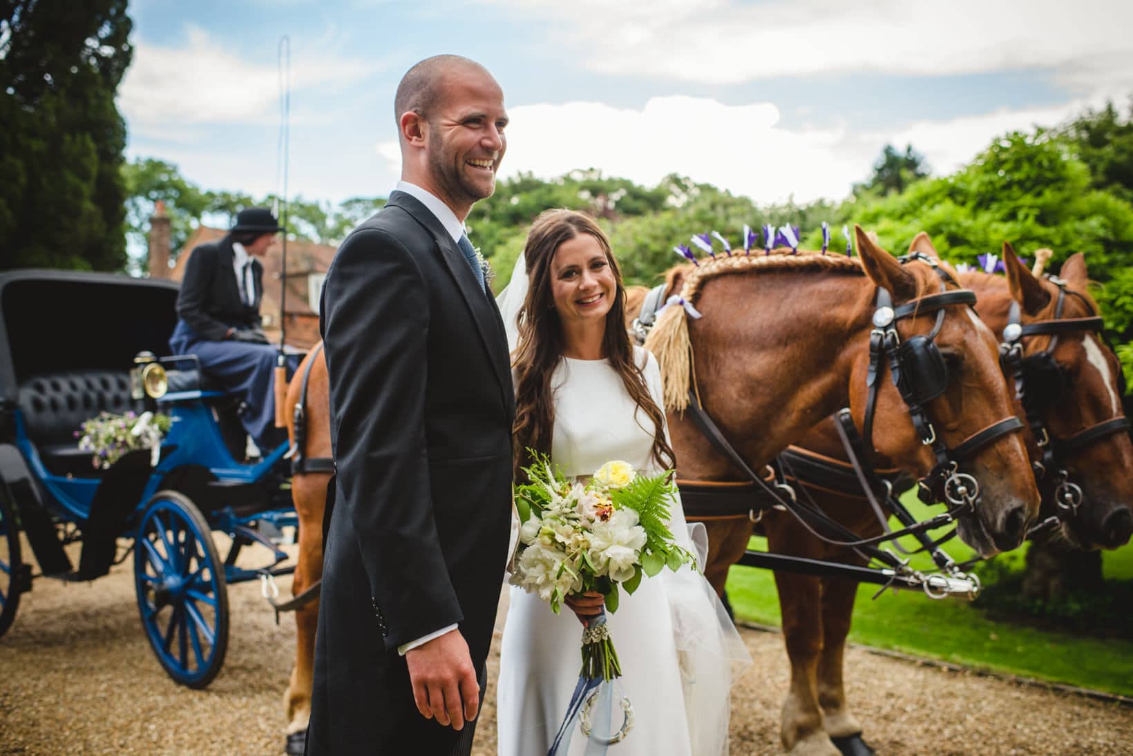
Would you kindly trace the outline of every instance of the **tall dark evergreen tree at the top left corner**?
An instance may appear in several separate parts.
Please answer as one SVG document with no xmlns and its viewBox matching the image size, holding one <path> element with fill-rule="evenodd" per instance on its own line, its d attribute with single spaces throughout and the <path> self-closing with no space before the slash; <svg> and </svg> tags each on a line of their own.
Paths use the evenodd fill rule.
<svg viewBox="0 0 1133 756">
<path fill-rule="evenodd" d="M 0 17 L 0 267 L 126 264 L 126 0 L 17 0 Z"/>
</svg>

